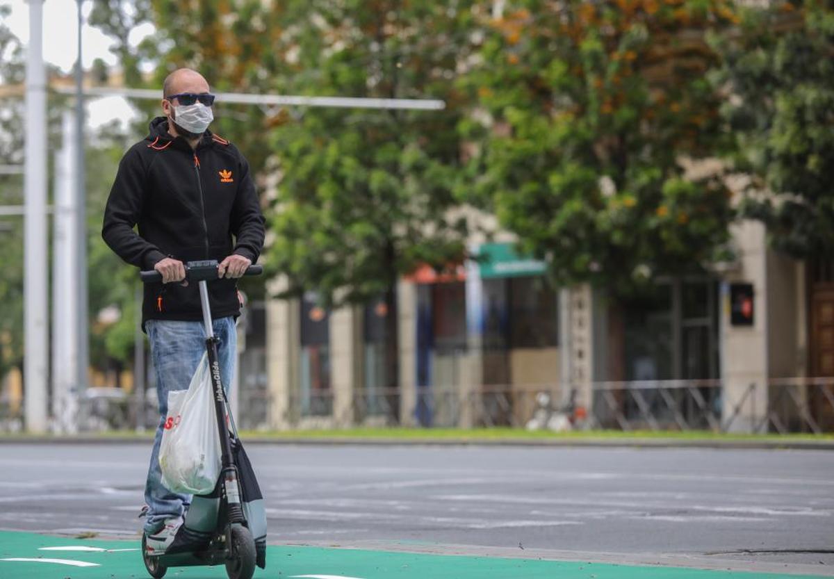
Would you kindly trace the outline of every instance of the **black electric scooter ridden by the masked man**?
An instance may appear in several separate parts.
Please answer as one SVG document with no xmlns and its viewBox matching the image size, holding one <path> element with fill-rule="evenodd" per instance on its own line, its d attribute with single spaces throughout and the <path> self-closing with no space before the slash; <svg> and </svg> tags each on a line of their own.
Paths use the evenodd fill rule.
<svg viewBox="0 0 834 579">
<path fill-rule="evenodd" d="M 239 467 L 246 461 L 245 467 L 251 471 L 249 459 L 245 457 L 242 446 L 236 436 L 229 431 L 226 422 L 226 393 L 220 381 L 218 363 L 218 338 L 214 335 L 211 309 L 208 304 L 207 282 L 218 279 L 218 262 L 216 259 L 189 261 L 186 264 L 185 279 L 197 281 L 200 291 L 200 304 L 203 309 L 203 324 L 206 332 L 206 352 L 208 368 L 214 391 L 214 409 L 220 434 L 221 471 L 214 491 L 208 495 L 193 496 L 191 505 L 185 515 L 183 524 L 178 528 L 173 542 L 159 552 L 148 545 L 148 537 L 142 534 L 142 557 L 145 568 L 154 579 L 162 579 L 168 567 L 177 566 L 226 566 L 229 579 L 251 579 L 256 563 L 265 566 L 265 518 L 263 541 L 256 546 L 250 521 L 247 521 L 249 508 L 242 500 L 244 490 L 241 488 Z M 250 265 L 246 275 L 258 275 L 262 272 L 260 265 Z M 142 271 L 143 282 L 162 281 L 158 271 Z M 234 426 L 234 422 L 232 423 Z M 250 483 L 251 484 L 251 483 Z M 257 489 L 257 482 L 254 482 Z M 251 491 L 249 491 L 251 495 Z M 260 497 L 259 497 L 260 498 Z"/>
</svg>

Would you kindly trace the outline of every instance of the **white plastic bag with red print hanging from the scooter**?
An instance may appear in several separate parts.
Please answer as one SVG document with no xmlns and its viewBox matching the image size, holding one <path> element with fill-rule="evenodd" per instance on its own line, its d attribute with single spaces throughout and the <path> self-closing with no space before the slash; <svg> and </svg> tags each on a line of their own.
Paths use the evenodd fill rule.
<svg viewBox="0 0 834 579">
<path fill-rule="evenodd" d="M 208 359 L 203 355 L 188 390 L 168 392 L 159 446 L 162 484 L 173 492 L 204 495 L 220 476 L 220 435 Z"/>
</svg>

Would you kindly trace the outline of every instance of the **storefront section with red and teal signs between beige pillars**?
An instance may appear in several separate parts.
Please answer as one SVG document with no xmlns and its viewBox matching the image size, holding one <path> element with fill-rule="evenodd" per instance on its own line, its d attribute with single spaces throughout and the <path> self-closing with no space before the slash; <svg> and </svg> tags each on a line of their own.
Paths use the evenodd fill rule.
<svg viewBox="0 0 834 579">
<path fill-rule="evenodd" d="M 559 386 L 558 293 L 545 264 L 513 244 L 470 254 L 401 279 L 396 312 L 382 298 L 334 312 L 317 310 L 312 294 L 268 302 L 269 425 L 510 425 L 528 415 L 536 392 Z"/>
</svg>

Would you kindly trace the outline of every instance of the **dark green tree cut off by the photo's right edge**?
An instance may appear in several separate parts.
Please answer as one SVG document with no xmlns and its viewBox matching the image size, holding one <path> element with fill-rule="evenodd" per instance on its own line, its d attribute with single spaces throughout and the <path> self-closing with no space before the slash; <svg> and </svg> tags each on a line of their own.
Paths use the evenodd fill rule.
<svg viewBox="0 0 834 579">
<path fill-rule="evenodd" d="M 718 39 L 725 118 L 736 170 L 753 176 L 742 204 L 771 244 L 796 258 L 834 252 L 834 10 L 774 3 L 744 12 L 739 33 Z M 768 191 L 771 194 L 762 194 Z"/>
</svg>

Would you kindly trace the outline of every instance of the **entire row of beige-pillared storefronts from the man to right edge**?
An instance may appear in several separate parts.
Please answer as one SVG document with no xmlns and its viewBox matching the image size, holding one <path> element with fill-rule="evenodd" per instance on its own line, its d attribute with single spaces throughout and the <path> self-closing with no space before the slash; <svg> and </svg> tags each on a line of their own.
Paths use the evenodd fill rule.
<svg viewBox="0 0 834 579">
<path fill-rule="evenodd" d="M 732 233 L 732 263 L 661 279 L 640 300 L 555 288 L 511 241 L 400 279 L 395 312 L 383 298 L 332 312 L 312 295 L 270 300 L 266 422 L 524 425 L 547 392 L 595 426 L 834 427 L 831 384 L 814 378 L 834 374 L 834 266 L 768 249 L 756 222 Z"/>
</svg>

